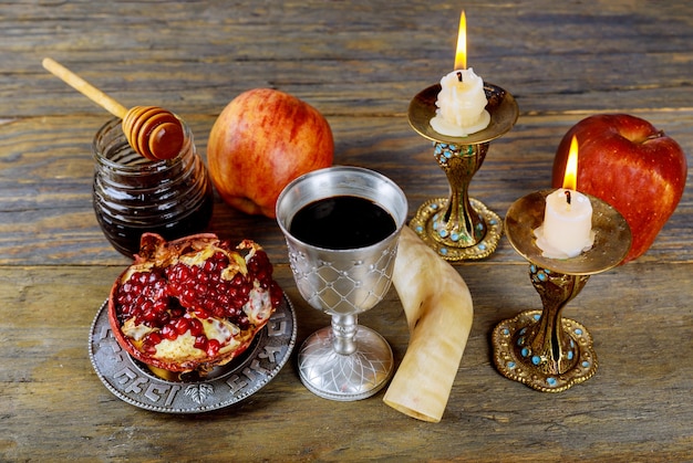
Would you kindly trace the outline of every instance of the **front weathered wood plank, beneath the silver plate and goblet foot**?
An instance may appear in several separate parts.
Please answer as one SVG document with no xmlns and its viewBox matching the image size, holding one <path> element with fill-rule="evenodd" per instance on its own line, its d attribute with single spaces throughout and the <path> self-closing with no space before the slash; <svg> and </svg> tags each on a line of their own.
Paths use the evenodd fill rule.
<svg viewBox="0 0 693 463">
<path fill-rule="evenodd" d="M 525 265 L 461 266 L 475 320 L 444 419 L 430 424 L 383 404 L 382 392 L 351 403 L 320 399 L 300 383 L 294 360 L 228 410 L 204 417 L 139 410 L 103 387 L 86 355 L 91 320 L 120 267 L 0 267 L 6 430 L 0 454 L 10 460 L 685 460 L 693 445 L 693 366 L 681 358 L 693 355 L 687 341 L 693 314 L 690 294 L 679 285 L 681 273 L 691 271 L 691 264 L 635 263 L 593 276 L 565 315 L 592 333 L 599 370 L 585 385 L 547 394 L 500 377 L 490 364 L 493 327 L 539 306 Z M 328 317 L 302 302 L 286 265 L 277 267 L 277 276 L 297 307 L 300 344 Z M 691 287 L 690 276 L 683 283 Z M 643 287 L 650 291 L 643 294 Z M 18 306 L 21 314 L 12 308 Z M 361 322 L 387 338 L 399 362 L 407 336 L 396 294 Z"/>
</svg>

